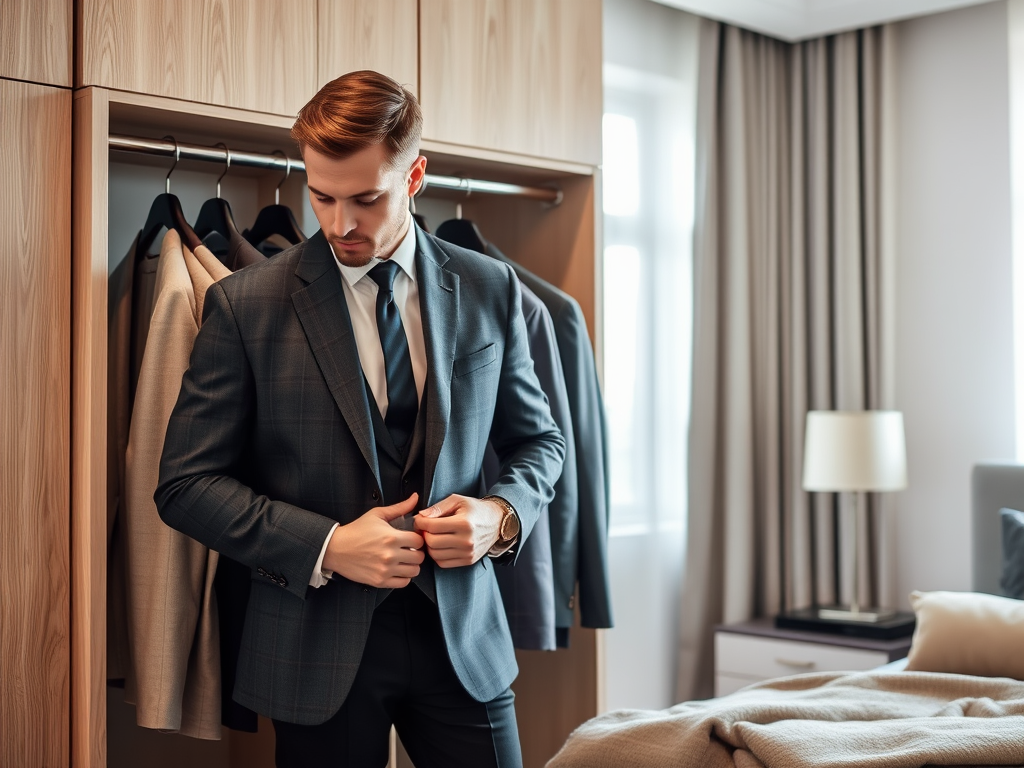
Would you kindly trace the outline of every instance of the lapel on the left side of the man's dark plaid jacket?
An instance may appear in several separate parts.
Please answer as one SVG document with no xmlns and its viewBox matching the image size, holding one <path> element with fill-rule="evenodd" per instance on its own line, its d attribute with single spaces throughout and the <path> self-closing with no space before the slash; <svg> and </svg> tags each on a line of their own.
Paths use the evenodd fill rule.
<svg viewBox="0 0 1024 768">
<path fill-rule="evenodd" d="M 370 401 L 358 365 L 352 321 L 334 254 L 323 232 L 316 232 L 306 242 L 295 274 L 306 283 L 305 288 L 292 294 L 292 304 L 309 348 L 362 458 L 380 485 L 380 468 L 370 426 Z"/>
</svg>

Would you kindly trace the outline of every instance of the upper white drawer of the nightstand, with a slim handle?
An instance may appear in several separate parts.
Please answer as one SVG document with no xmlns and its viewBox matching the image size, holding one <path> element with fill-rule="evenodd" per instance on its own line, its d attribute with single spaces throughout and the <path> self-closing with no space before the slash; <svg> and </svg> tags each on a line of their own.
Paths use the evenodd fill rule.
<svg viewBox="0 0 1024 768">
<path fill-rule="evenodd" d="M 884 651 L 775 640 L 752 635 L 715 634 L 715 671 L 719 675 L 770 680 L 805 672 L 870 670 L 889 662 Z"/>
</svg>

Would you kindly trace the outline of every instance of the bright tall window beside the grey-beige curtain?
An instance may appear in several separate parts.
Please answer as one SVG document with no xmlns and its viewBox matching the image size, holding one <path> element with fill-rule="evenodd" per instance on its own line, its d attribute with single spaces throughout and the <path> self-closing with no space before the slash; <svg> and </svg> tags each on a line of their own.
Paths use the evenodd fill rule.
<svg viewBox="0 0 1024 768">
<path fill-rule="evenodd" d="M 681 531 L 690 387 L 692 133 L 674 119 L 677 83 L 607 70 L 602 202 L 611 536 L 666 526 Z"/>
</svg>

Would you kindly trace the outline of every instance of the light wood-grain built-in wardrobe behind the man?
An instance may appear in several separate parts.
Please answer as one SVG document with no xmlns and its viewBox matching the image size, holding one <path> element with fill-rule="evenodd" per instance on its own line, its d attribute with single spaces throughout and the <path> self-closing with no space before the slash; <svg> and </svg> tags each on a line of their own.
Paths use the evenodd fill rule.
<svg viewBox="0 0 1024 768">
<path fill-rule="evenodd" d="M 294 157 L 289 129 L 321 85 L 384 72 L 418 93 L 429 172 L 563 191 L 554 207 L 446 195 L 574 296 L 596 341 L 601 4 L 5 0 L 0 22 L 0 765 L 101 768 L 109 137 Z M 264 176 L 261 203 L 279 181 Z M 289 189 L 294 206 L 303 186 Z M 567 650 L 519 653 L 527 766 L 602 710 L 601 640 L 574 628 Z M 224 768 L 272 764 L 265 734 L 225 743 Z"/>
</svg>

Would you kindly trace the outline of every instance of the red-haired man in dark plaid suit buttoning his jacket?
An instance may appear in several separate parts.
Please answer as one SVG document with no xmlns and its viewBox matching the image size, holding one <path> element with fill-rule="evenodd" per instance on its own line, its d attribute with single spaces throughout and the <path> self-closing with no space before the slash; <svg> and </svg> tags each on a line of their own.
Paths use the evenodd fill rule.
<svg viewBox="0 0 1024 768">
<path fill-rule="evenodd" d="M 418 768 L 521 763 L 494 568 L 564 442 L 511 269 L 412 223 L 421 125 L 373 72 L 302 109 L 321 231 L 210 290 L 168 427 L 161 516 L 252 568 L 233 695 L 282 767 L 384 765 L 392 723 Z"/>
</svg>

